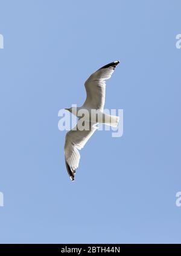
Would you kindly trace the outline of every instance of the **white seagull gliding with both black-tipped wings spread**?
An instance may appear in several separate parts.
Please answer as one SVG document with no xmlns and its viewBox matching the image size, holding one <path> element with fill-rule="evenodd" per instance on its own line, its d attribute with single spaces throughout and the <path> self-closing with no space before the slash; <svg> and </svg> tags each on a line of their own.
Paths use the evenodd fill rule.
<svg viewBox="0 0 181 256">
<path fill-rule="evenodd" d="M 78 150 L 83 149 L 89 138 L 94 134 L 95 130 L 98 129 L 97 124 L 105 123 L 113 127 L 118 125 L 119 116 L 110 116 L 103 113 L 106 96 L 106 80 L 112 76 L 118 64 L 119 61 L 113 61 L 92 73 L 84 84 L 87 96 L 83 106 L 66 109 L 79 118 L 77 125 L 72 130 L 69 130 L 65 136 L 65 164 L 68 175 L 72 181 L 74 181 L 75 170 L 78 168 L 80 161 L 80 153 Z M 90 118 L 90 115 L 87 114 L 80 116 L 78 112 L 81 112 L 81 110 L 86 111 L 88 114 L 90 114 L 92 110 L 96 110 L 98 115 L 95 115 L 95 118 L 92 118 L 92 116 Z M 98 118 L 99 114 L 101 116 L 100 118 Z M 84 122 L 89 126 L 89 129 L 80 129 L 81 124 L 83 124 L 83 118 Z"/>
</svg>

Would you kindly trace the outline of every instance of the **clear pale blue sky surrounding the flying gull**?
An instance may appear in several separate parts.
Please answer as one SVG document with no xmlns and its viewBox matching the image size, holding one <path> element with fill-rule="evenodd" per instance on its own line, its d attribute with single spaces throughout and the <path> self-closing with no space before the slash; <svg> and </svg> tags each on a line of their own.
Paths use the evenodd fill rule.
<svg viewBox="0 0 181 256">
<path fill-rule="evenodd" d="M 180 0 L 0 5 L 0 243 L 180 243 Z M 58 111 L 116 59 L 124 135 L 95 133 L 71 183 Z"/>
</svg>

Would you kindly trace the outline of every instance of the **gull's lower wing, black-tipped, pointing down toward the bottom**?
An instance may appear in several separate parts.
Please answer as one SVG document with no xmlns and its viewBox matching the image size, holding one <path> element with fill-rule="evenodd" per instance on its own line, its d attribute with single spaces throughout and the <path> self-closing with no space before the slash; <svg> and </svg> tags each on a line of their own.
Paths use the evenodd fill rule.
<svg viewBox="0 0 181 256">
<path fill-rule="evenodd" d="M 64 147 L 65 163 L 69 177 L 72 181 L 74 180 L 75 170 L 78 168 L 80 161 L 80 153 L 78 150 L 81 150 L 84 147 L 95 130 L 97 130 L 97 127 L 92 123 L 90 123 L 90 130 L 78 130 L 77 123 L 72 130 L 66 133 Z"/>
</svg>

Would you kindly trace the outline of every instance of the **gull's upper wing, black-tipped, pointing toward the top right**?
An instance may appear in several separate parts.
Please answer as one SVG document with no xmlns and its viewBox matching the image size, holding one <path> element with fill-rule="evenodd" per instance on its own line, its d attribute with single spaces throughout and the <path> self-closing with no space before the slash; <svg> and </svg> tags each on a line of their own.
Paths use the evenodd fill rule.
<svg viewBox="0 0 181 256">
<path fill-rule="evenodd" d="M 106 80 L 112 76 L 118 64 L 119 61 L 111 62 L 89 76 L 85 83 L 87 98 L 83 104 L 84 107 L 100 110 L 104 109 Z"/>
</svg>

